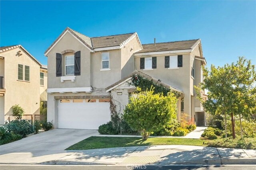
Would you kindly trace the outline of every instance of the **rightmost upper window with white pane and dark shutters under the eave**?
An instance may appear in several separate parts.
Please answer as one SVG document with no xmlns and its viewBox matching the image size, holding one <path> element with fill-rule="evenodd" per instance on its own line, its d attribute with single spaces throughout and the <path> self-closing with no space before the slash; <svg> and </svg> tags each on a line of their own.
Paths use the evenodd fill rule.
<svg viewBox="0 0 256 170">
<path fill-rule="evenodd" d="M 182 67 L 182 55 L 170 55 L 164 57 L 165 68 Z"/>
</svg>

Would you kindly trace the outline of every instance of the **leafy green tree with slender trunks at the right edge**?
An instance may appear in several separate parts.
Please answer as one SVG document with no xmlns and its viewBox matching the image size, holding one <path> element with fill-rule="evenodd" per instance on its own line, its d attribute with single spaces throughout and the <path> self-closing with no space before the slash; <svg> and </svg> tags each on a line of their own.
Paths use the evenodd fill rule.
<svg viewBox="0 0 256 170">
<path fill-rule="evenodd" d="M 204 81 L 199 87 L 194 86 L 205 111 L 213 115 L 224 115 L 225 133 L 227 132 L 226 113 L 230 115 L 233 138 L 235 138 L 234 115 L 249 118 L 255 113 L 255 72 L 255 65 L 252 65 L 250 60 L 239 57 L 236 63 L 225 64 L 224 67 L 211 65 L 210 70 L 203 67 Z M 200 95 L 203 89 L 208 90 L 206 101 Z"/>
</svg>

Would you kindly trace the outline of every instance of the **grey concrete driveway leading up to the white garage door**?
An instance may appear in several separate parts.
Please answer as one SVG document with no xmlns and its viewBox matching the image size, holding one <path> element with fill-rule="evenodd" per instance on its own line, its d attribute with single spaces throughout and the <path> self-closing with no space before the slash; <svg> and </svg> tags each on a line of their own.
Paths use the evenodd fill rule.
<svg viewBox="0 0 256 170">
<path fill-rule="evenodd" d="M 0 146 L 0 154 L 12 151 L 56 151 L 65 150 L 69 146 L 90 136 L 99 134 L 98 130 L 87 129 L 53 129 L 34 134 L 21 140 Z M 5 151 L 5 152 L 4 152 Z"/>
</svg>

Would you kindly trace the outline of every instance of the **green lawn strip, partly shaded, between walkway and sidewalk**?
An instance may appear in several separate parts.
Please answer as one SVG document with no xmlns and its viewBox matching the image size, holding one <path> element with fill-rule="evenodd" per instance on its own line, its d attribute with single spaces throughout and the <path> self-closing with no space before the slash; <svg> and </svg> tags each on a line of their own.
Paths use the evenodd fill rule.
<svg viewBox="0 0 256 170">
<path fill-rule="evenodd" d="M 148 145 L 163 145 L 163 144 L 181 144 L 194 146 L 207 146 L 207 140 L 202 139 L 186 139 L 186 138 L 148 138 L 142 140 L 135 137 L 99 137 L 91 136 L 84 139 L 66 150 L 86 150 L 98 148 L 115 148 L 128 146 L 148 146 Z M 205 144 L 203 144 L 203 142 Z"/>
</svg>

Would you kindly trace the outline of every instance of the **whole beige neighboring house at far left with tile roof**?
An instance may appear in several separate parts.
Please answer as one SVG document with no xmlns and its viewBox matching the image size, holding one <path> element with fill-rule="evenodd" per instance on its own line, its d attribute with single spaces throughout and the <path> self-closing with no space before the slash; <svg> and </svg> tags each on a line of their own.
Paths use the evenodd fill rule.
<svg viewBox="0 0 256 170">
<path fill-rule="evenodd" d="M 15 104 L 26 115 L 40 114 L 40 70 L 47 73 L 41 67 L 21 45 L 0 47 L 0 125 L 10 119 Z"/>
</svg>

